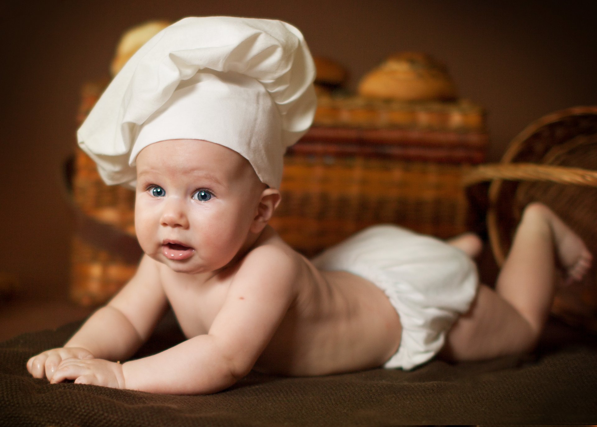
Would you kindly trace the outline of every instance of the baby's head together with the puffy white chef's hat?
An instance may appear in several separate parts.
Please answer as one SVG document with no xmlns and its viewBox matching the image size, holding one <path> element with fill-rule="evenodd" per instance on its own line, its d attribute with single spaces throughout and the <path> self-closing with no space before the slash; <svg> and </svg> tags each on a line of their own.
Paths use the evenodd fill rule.
<svg viewBox="0 0 597 427">
<path fill-rule="evenodd" d="M 314 79 L 290 24 L 184 18 L 122 67 L 79 128 L 79 146 L 107 184 L 136 189 L 146 253 L 176 271 L 217 270 L 278 205 L 282 156 L 315 115 Z"/>
</svg>

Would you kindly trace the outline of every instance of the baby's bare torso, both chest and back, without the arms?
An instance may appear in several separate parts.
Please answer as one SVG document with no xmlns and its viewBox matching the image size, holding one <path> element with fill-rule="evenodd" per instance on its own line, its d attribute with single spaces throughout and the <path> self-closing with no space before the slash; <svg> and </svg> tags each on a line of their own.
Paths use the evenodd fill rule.
<svg viewBox="0 0 597 427">
<path fill-rule="evenodd" d="M 271 233 L 266 244 L 291 253 L 299 273 L 296 297 L 254 370 L 325 375 L 377 367 L 388 360 L 398 349 L 401 324 L 383 291 L 345 271 L 318 271 Z M 187 338 L 209 332 L 236 271 L 232 267 L 197 286 L 190 277 L 185 283 L 179 274 L 162 270 L 165 293 Z"/>
</svg>

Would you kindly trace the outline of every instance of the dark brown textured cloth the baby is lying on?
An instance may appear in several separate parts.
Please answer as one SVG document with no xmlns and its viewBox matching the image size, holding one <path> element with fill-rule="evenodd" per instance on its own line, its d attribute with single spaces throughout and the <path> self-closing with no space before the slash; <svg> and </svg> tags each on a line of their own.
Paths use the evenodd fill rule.
<svg viewBox="0 0 597 427">
<path fill-rule="evenodd" d="M 597 420 L 597 345 L 555 324 L 532 355 L 482 363 L 433 360 L 411 372 L 375 369 L 316 378 L 251 373 L 207 396 L 157 395 L 27 373 L 27 359 L 60 346 L 79 323 L 0 344 L 0 425 L 447 425 L 592 424 Z M 553 326 L 553 324 L 552 324 Z M 173 317 L 137 354 L 182 339 Z"/>
</svg>

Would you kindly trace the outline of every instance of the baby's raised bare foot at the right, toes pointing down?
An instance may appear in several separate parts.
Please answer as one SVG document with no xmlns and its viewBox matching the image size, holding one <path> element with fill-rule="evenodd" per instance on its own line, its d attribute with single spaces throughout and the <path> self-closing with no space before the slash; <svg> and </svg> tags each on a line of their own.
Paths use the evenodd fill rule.
<svg viewBox="0 0 597 427">
<path fill-rule="evenodd" d="M 567 274 L 564 284 L 568 285 L 582 280 L 593 261 L 593 255 L 583 240 L 558 215 L 542 203 L 533 203 L 531 209 L 539 210 L 552 230 L 559 262 Z"/>
</svg>

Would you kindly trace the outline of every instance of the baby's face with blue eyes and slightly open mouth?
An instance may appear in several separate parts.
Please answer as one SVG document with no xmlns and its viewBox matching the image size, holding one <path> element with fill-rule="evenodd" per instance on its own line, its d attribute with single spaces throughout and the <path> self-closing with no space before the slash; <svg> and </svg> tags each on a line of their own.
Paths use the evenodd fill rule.
<svg viewBox="0 0 597 427">
<path fill-rule="evenodd" d="M 247 159 L 219 144 L 150 144 L 137 156 L 139 244 L 180 273 L 218 270 L 251 240 L 264 188 Z"/>
</svg>

